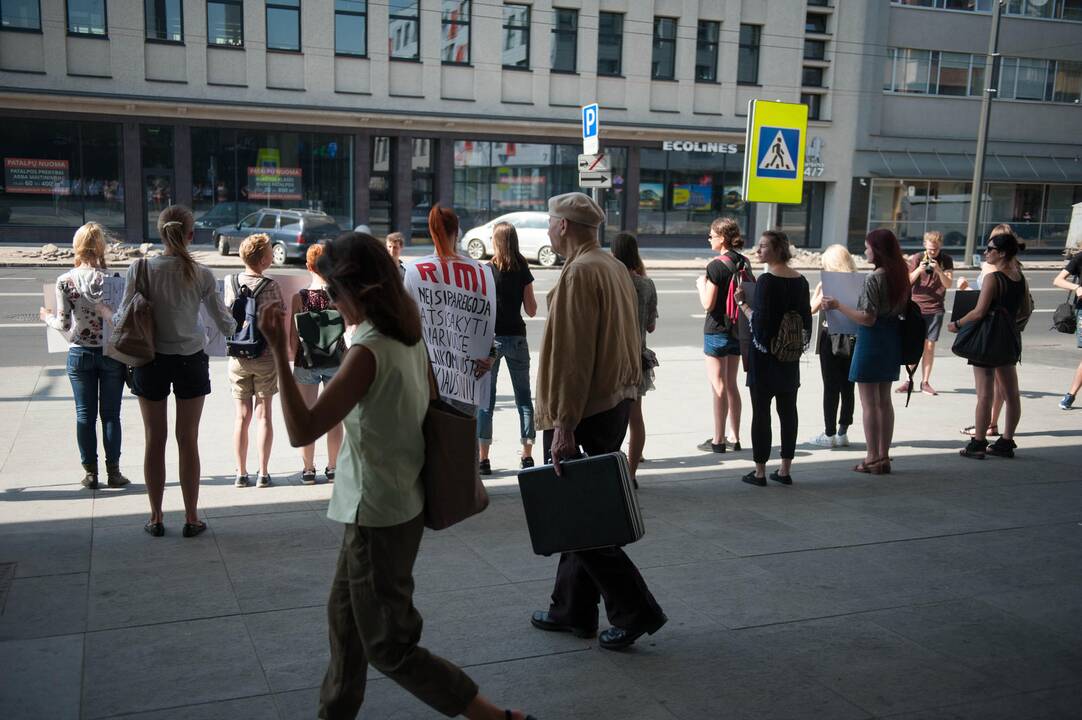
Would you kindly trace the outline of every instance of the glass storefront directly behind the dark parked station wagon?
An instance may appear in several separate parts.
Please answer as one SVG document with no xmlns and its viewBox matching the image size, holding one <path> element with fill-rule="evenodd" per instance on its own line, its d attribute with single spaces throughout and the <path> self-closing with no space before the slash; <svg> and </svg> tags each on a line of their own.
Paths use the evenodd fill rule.
<svg viewBox="0 0 1082 720">
<path fill-rule="evenodd" d="M 254 209 L 321 210 L 353 223 L 351 135 L 192 129 L 192 204 L 197 224 L 239 222 Z"/>
</svg>

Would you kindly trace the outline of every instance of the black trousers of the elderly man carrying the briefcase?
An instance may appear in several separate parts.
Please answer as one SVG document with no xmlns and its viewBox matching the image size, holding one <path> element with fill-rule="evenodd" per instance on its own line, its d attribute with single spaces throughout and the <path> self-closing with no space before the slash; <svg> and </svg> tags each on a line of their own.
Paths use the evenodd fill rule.
<svg viewBox="0 0 1082 720">
<path fill-rule="evenodd" d="M 586 455 L 619 450 L 628 432 L 630 413 L 631 401 L 623 401 L 611 410 L 584 418 L 575 429 L 575 442 Z M 550 461 L 552 436 L 552 430 L 544 431 L 545 462 Z M 609 623 L 618 628 L 652 628 L 664 618 L 635 563 L 620 548 L 560 554 L 549 607 L 552 619 L 596 628 L 597 602 L 602 598 Z"/>
</svg>

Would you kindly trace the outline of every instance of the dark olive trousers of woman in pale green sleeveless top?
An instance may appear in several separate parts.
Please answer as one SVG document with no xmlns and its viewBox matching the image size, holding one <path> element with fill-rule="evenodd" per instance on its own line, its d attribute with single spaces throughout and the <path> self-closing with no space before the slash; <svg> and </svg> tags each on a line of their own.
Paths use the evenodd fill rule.
<svg viewBox="0 0 1082 720">
<path fill-rule="evenodd" d="M 368 664 L 451 718 L 462 715 L 477 685 L 459 667 L 418 645 L 413 561 L 424 515 L 401 525 L 346 525 L 327 601 L 331 662 L 319 691 L 325 720 L 357 717 Z"/>
</svg>

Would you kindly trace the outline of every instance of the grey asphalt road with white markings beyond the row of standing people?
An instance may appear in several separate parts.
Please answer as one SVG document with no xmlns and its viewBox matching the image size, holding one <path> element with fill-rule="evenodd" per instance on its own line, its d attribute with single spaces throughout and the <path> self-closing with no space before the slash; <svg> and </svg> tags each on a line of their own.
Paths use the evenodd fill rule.
<svg viewBox="0 0 1082 720">
<path fill-rule="evenodd" d="M 0 269 L 0 367 L 63 365 L 62 354 L 45 352 L 44 326 L 38 320 L 41 288 L 63 272 L 56 267 Z M 299 274 L 300 269 L 274 271 L 270 274 Z M 214 271 L 216 276 L 227 271 Z M 531 348 L 539 346 L 544 319 L 544 294 L 556 279 L 557 271 L 537 270 L 535 288 L 541 311 L 527 323 Z M 819 273 L 807 272 L 808 283 L 815 287 Z M 652 348 L 698 346 L 702 342 L 702 307 L 695 291 L 697 273 L 688 270 L 655 271 L 650 274 L 658 288 L 658 329 L 650 338 Z M 1025 358 L 1045 365 L 1073 368 L 1079 362 L 1079 351 L 1073 336 L 1050 331 L 1052 311 L 1063 302 L 1066 292 L 1052 287 L 1054 271 L 1027 273 L 1037 313 L 1030 320 L 1022 343 Z M 948 303 L 953 293 L 948 296 Z M 946 330 L 945 337 L 947 340 Z M 940 342 L 938 353 L 950 354 L 949 342 Z"/>
</svg>

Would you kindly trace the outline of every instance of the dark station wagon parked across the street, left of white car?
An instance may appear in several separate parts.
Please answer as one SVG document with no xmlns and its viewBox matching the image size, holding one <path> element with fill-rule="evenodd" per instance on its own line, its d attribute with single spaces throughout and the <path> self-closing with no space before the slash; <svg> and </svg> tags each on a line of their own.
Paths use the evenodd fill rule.
<svg viewBox="0 0 1082 720">
<path fill-rule="evenodd" d="M 266 233 L 270 236 L 274 264 L 285 265 L 290 260 L 303 261 L 311 246 L 338 237 L 341 232 L 334 219 L 324 212 L 264 208 L 235 225 L 215 230 L 214 244 L 219 252 L 227 256 L 249 235 Z"/>
</svg>

